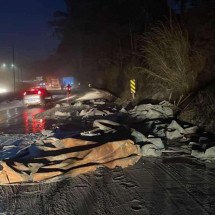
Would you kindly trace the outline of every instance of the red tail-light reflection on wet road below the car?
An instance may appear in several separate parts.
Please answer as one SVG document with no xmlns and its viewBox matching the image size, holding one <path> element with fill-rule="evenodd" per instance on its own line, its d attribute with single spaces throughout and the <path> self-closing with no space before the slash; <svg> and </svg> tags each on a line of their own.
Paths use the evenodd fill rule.
<svg viewBox="0 0 215 215">
<path fill-rule="evenodd" d="M 45 128 L 45 119 L 35 119 L 35 115 L 42 113 L 45 110 L 43 108 L 25 109 L 23 111 L 23 121 L 25 133 L 37 133 Z"/>
</svg>

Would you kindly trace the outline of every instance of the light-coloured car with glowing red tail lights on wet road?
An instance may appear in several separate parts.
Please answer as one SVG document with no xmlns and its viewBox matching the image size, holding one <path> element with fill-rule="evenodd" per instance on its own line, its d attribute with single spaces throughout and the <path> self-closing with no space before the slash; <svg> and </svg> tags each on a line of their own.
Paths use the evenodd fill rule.
<svg viewBox="0 0 215 215">
<path fill-rule="evenodd" d="M 50 102 L 52 102 L 52 95 L 44 88 L 31 88 L 23 94 L 23 103 L 26 107 L 32 105 L 44 106 Z"/>
</svg>

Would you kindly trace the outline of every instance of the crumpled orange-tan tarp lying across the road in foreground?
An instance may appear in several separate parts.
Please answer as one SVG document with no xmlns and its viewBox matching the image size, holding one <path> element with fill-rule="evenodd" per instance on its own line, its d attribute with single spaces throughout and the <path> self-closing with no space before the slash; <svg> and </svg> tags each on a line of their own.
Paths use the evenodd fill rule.
<svg viewBox="0 0 215 215">
<path fill-rule="evenodd" d="M 0 184 L 57 181 L 94 171 L 99 166 L 122 168 L 135 164 L 140 148 L 131 140 L 98 144 L 67 138 L 50 138 L 42 144 L 31 145 L 29 155 L 1 162 Z M 31 151 L 37 151 L 36 155 Z"/>
</svg>

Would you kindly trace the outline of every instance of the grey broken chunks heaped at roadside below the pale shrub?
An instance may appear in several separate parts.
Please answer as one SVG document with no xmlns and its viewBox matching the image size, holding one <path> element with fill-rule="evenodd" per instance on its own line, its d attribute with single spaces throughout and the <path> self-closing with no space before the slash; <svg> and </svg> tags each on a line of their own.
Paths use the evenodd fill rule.
<svg viewBox="0 0 215 215">
<path fill-rule="evenodd" d="M 123 124 L 130 126 L 131 139 L 140 145 L 142 156 L 162 156 L 162 153 L 183 152 L 202 160 L 215 160 L 214 140 L 208 140 L 204 144 L 196 140 L 198 127 L 183 123 L 174 119 L 171 104 L 161 102 L 158 105 L 144 104 L 131 110 L 120 111 Z M 136 130 L 135 123 L 139 123 Z M 82 132 L 82 136 L 96 136 L 102 133 L 117 132 L 119 123 L 108 120 L 95 120 L 93 130 Z M 134 127 L 133 127 L 134 126 Z M 194 143 L 193 141 L 197 143 Z M 198 149 L 196 149 L 198 145 Z"/>
</svg>

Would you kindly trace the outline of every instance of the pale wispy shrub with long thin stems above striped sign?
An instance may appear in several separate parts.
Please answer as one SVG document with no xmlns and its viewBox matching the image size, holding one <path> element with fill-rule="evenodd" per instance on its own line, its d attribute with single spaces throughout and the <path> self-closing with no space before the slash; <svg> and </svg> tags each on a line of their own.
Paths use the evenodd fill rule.
<svg viewBox="0 0 215 215">
<path fill-rule="evenodd" d="M 159 25 L 140 37 L 139 48 L 145 66 L 133 69 L 148 75 L 151 88 L 165 92 L 166 97 L 171 94 L 174 99 L 197 88 L 205 60 L 191 47 L 185 30 Z"/>
</svg>

